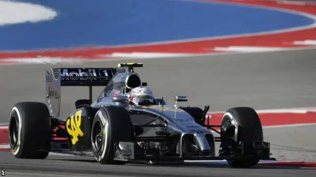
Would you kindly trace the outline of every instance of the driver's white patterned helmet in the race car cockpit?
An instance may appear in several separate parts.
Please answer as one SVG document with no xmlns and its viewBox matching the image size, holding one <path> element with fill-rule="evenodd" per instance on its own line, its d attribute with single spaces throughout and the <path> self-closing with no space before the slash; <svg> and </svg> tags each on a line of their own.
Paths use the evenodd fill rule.
<svg viewBox="0 0 316 177">
<path fill-rule="evenodd" d="M 147 87 L 137 87 L 128 93 L 128 101 L 132 105 L 151 105 L 154 103 L 153 91 Z"/>
</svg>

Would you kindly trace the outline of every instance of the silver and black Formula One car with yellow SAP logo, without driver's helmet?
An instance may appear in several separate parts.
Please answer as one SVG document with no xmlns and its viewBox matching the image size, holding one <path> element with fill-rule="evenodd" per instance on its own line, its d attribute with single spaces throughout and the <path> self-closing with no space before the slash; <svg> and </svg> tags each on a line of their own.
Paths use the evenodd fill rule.
<svg viewBox="0 0 316 177">
<path fill-rule="evenodd" d="M 172 106 L 163 97 L 155 98 L 153 105 L 129 105 L 126 93 L 147 86 L 133 69 L 142 66 L 120 63 L 118 68 L 46 71 L 46 104 L 20 102 L 11 110 L 9 140 L 14 156 L 44 159 L 49 152 L 68 153 L 94 156 L 100 164 L 227 160 L 239 168 L 254 166 L 260 159 L 275 160 L 252 108 L 231 108 L 221 125 L 210 125 L 209 106 L 202 110 L 176 105 L 188 101 L 186 96 L 176 96 Z M 89 87 L 89 99 L 76 101 L 76 110 L 66 121 L 58 118 L 63 86 Z M 92 102 L 94 86 L 105 89 Z M 218 156 L 215 142 L 221 143 Z"/>
</svg>

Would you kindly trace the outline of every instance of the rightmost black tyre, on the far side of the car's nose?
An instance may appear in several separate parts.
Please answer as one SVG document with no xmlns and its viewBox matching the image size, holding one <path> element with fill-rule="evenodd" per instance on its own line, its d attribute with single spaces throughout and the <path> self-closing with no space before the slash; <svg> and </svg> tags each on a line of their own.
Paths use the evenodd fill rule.
<svg viewBox="0 0 316 177">
<path fill-rule="evenodd" d="M 251 155 L 253 150 L 253 141 L 263 141 L 263 131 L 260 118 L 257 112 L 249 107 L 231 108 L 226 111 L 222 118 L 222 125 L 224 123 L 237 124 L 237 136 L 235 141 L 243 141 L 244 155 Z M 225 142 L 221 142 L 225 143 Z M 247 158 L 238 160 L 227 160 L 227 162 L 236 168 L 248 168 L 257 165 L 259 158 Z"/>
</svg>

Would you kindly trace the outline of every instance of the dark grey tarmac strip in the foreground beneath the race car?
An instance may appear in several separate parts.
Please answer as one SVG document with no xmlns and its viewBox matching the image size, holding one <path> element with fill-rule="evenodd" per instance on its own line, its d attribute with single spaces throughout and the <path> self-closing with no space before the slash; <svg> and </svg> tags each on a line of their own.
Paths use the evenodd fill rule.
<svg viewBox="0 0 316 177">
<path fill-rule="evenodd" d="M 0 163 L 8 177 L 44 176 L 71 177 L 315 177 L 314 169 L 288 167 L 256 166 L 249 169 L 235 169 L 228 165 L 205 162 L 185 163 L 183 165 L 145 165 L 125 164 L 101 165 L 94 158 L 49 156 L 44 160 L 15 159 L 9 152 L 1 152 Z M 12 175 L 12 176 L 11 176 Z"/>
</svg>

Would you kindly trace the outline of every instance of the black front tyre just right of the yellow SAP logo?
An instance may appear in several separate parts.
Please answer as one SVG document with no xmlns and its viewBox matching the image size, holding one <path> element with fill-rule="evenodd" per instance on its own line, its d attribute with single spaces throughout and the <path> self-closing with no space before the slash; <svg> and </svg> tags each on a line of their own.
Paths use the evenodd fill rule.
<svg viewBox="0 0 316 177">
<path fill-rule="evenodd" d="M 114 160 L 115 143 L 135 139 L 133 125 L 127 110 L 123 107 L 104 106 L 93 119 L 91 128 L 92 152 L 100 164 L 124 165 Z"/>
</svg>

